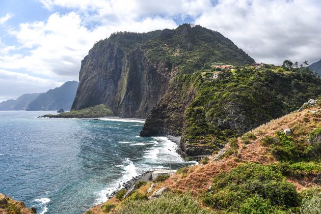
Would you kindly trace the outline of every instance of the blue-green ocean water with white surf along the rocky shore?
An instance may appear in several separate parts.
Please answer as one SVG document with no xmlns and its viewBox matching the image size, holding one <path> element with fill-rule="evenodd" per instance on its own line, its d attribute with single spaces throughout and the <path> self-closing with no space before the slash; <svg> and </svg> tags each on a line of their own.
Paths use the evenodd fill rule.
<svg viewBox="0 0 321 214">
<path fill-rule="evenodd" d="M 133 176 L 193 164 L 168 138 L 139 137 L 142 121 L 37 118 L 48 113 L 0 111 L 0 193 L 37 213 L 82 213 Z"/>
</svg>

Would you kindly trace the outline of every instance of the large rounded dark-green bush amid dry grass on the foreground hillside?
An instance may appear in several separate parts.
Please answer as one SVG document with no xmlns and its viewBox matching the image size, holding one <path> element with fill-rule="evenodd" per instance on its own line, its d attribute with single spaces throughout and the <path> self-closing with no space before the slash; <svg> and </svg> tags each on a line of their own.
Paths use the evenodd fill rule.
<svg viewBox="0 0 321 214">
<path fill-rule="evenodd" d="M 275 166 L 248 163 L 213 178 L 204 203 L 223 212 L 282 213 L 299 205 L 295 187 Z"/>
</svg>

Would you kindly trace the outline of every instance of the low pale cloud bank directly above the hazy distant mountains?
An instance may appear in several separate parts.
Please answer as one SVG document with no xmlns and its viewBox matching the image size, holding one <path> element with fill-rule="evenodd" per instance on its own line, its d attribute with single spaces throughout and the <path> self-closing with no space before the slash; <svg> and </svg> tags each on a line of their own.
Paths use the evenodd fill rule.
<svg viewBox="0 0 321 214">
<path fill-rule="evenodd" d="M 51 79 L 0 69 L 0 102 L 9 98 L 16 99 L 26 93 L 42 93 L 62 84 Z"/>
</svg>

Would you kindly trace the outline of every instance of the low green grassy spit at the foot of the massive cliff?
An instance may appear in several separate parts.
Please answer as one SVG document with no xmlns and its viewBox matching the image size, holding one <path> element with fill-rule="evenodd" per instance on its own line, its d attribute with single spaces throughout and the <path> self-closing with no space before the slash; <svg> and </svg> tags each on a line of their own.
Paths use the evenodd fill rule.
<svg viewBox="0 0 321 214">
<path fill-rule="evenodd" d="M 72 110 L 70 112 L 61 113 L 58 115 L 46 114 L 42 117 L 50 118 L 94 118 L 113 116 L 112 110 L 106 108 L 103 104 L 97 106 L 91 106 L 81 110 Z"/>
</svg>

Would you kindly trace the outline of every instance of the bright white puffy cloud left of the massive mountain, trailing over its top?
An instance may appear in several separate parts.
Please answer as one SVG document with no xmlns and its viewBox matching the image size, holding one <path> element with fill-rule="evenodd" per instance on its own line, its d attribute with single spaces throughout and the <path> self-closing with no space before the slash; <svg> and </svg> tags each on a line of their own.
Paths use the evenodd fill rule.
<svg viewBox="0 0 321 214">
<path fill-rule="evenodd" d="M 75 12 L 54 13 L 46 21 L 21 23 L 17 29 L 11 30 L 10 34 L 21 44 L 19 49 L 27 49 L 28 54 L 2 54 L 0 68 L 22 69 L 59 81 L 77 80 L 81 60 L 96 41 L 116 31 L 149 32 L 166 27 L 174 28 L 176 23 L 161 17 L 139 21 L 124 18 L 117 23 L 89 29 L 81 15 Z"/>
</svg>

